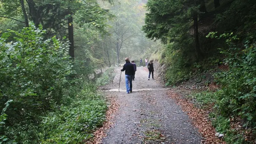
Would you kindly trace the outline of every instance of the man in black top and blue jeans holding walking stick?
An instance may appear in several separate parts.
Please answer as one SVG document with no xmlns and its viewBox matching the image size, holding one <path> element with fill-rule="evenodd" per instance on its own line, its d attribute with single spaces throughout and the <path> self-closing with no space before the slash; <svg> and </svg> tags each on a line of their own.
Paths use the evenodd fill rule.
<svg viewBox="0 0 256 144">
<path fill-rule="evenodd" d="M 125 71 L 125 85 L 126 85 L 126 93 L 132 92 L 132 77 L 134 75 L 133 64 L 130 63 L 128 58 L 125 58 L 126 63 L 124 64 L 123 69 L 121 71 Z"/>
</svg>

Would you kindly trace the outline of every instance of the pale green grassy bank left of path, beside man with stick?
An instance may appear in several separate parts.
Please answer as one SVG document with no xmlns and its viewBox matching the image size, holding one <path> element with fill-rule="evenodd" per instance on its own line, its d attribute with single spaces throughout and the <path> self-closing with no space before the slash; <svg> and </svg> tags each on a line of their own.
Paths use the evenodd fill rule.
<svg viewBox="0 0 256 144">
<path fill-rule="evenodd" d="M 114 73 L 115 68 L 111 67 L 108 68 L 100 78 L 98 78 L 96 84 L 97 85 L 106 85 L 111 83 L 111 81 L 114 79 L 115 77 L 115 73 Z"/>
</svg>

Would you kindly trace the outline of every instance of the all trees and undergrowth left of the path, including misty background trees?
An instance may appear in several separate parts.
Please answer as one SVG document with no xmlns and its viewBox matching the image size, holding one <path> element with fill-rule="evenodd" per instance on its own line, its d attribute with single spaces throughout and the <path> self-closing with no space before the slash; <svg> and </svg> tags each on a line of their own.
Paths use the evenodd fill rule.
<svg viewBox="0 0 256 144">
<path fill-rule="evenodd" d="M 97 87 L 153 45 L 141 31 L 144 4 L 1 0 L 0 143 L 91 139 L 108 109 Z"/>
</svg>

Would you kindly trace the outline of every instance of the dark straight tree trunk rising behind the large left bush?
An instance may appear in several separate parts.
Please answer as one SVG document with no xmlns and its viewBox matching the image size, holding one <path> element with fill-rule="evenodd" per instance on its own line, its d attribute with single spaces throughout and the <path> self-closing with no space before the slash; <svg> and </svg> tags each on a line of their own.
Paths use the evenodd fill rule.
<svg viewBox="0 0 256 144">
<path fill-rule="evenodd" d="M 68 17 L 68 39 L 69 39 L 69 55 L 72 59 L 75 58 L 74 48 L 74 29 L 73 29 L 73 15 L 70 14 Z"/>
</svg>

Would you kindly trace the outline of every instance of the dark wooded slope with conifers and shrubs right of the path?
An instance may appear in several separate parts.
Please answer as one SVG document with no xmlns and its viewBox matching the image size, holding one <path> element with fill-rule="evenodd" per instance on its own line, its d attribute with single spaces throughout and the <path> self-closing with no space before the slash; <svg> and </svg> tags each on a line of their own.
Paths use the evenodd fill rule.
<svg viewBox="0 0 256 144">
<path fill-rule="evenodd" d="M 211 109 L 209 118 L 228 144 L 256 140 L 254 7 L 250 0 L 147 3 L 143 30 L 164 44 L 148 54 L 165 65 L 166 85 L 204 82 L 206 88 L 188 99 Z"/>
</svg>

